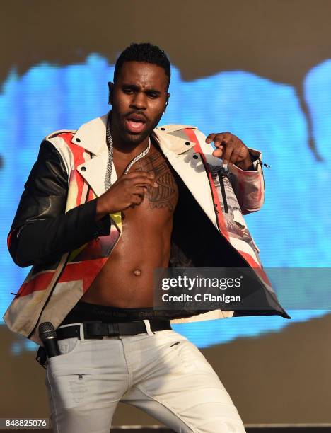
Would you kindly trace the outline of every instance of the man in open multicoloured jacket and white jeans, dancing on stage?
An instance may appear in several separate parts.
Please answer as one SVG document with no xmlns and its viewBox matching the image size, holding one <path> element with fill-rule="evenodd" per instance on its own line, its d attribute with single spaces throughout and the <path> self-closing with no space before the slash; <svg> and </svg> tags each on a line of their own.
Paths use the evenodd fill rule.
<svg viewBox="0 0 331 433">
<path fill-rule="evenodd" d="M 16 264 L 33 268 L 7 325 L 40 345 L 40 323 L 57 329 L 61 355 L 47 359 L 46 378 L 56 432 L 109 432 L 120 400 L 176 432 L 245 431 L 207 360 L 170 327 L 233 311 L 154 311 L 153 272 L 261 271 L 240 212 L 262 205 L 260 152 L 228 132 L 205 139 L 187 125 L 156 128 L 169 81 L 158 47 L 124 50 L 111 112 L 46 137 L 8 235 Z M 236 195 L 219 174 L 222 161 Z M 268 294 L 272 311 L 286 317 Z"/>
</svg>

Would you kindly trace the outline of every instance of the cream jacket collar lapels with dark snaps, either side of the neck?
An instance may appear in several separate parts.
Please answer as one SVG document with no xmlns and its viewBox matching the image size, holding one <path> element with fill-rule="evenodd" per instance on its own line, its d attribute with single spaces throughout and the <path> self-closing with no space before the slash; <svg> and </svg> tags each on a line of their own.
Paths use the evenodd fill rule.
<svg viewBox="0 0 331 433">
<path fill-rule="evenodd" d="M 108 114 L 109 112 L 81 125 L 71 142 L 90 151 L 95 156 L 100 156 L 104 151 L 108 151 L 106 140 Z M 170 152 L 180 155 L 194 146 L 194 142 L 176 134 L 180 129 L 185 128 L 197 129 L 197 127 L 190 125 L 164 125 L 156 127 L 151 135 L 156 139 L 164 154 Z"/>
</svg>

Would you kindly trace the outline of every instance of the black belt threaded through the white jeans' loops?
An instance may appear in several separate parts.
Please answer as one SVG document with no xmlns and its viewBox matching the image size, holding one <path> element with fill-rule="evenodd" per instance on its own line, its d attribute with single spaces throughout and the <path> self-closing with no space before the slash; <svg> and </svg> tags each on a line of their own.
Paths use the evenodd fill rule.
<svg viewBox="0 0 331 433">
<path fill-rule="evenodd" d="M 149 319 L 152 331 L 172 329 L 170 321 L 160 319 Z M 57 340 L 64 338 L 78 337 L 81 338 L 80 325 L 65 326 L 57 329 Z M 110 322 L 102 323 L 101 321 L 83 322 L 84 339 L 89 338 L 102 339 L 103 337 L 114 337 L 117 335 L 135 335 L 146 333 L 144 321 L 132 322 Z"/>
</svg>

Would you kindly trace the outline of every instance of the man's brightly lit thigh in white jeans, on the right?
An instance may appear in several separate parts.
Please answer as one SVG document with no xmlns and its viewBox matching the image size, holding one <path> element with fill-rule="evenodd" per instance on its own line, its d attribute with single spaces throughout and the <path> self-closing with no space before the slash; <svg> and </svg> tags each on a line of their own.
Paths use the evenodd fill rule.
<svg viewBox="0 0 331 433">
<path fill-rule="evenodd" d="M 165 333 L 155 365 L 124 394 L 124 403 L 149 412 L 175 432 L 245 432 L 236 406 L 207 359 L 176 334 Z"/>
</svg>

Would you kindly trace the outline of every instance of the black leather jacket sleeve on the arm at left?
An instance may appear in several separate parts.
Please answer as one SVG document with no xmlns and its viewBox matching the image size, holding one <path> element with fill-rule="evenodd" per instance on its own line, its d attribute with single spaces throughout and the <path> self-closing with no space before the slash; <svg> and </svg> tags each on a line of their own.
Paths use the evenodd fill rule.
<svg viewBox="0 0 331 433">
<path fill-rule="evenodd" d="M 95 221 L 96 198 L 65 212 L 67 194 L 64 161 L 56 147 L 44 140 L 8 233 L 8 250 L 16 265 L 52 262 L 110 233 L 109 214 Z"/>
</svg>

